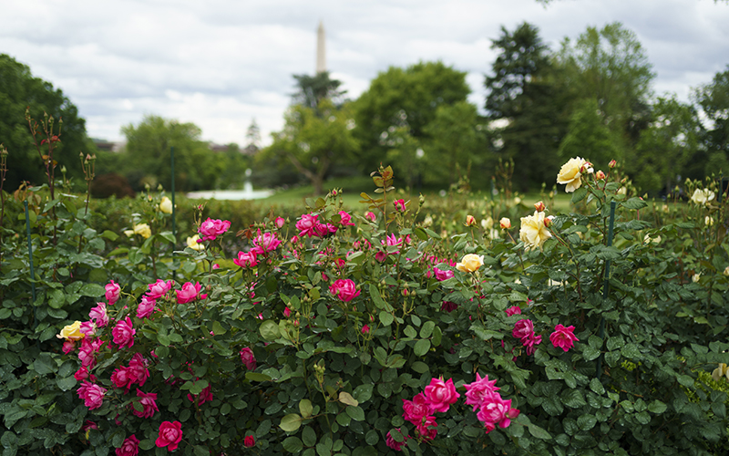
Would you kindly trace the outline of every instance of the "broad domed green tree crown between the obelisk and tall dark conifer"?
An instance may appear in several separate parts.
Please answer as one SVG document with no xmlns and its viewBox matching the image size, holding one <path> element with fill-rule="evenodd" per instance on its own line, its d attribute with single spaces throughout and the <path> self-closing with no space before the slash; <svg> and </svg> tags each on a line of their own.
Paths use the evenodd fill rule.
<svg viewBox="0 0 729 456">
<path fill-rule="evenodd" d="M 355 135 L 362 146 L 359 165 L 375 169 L 385 159 L 387 132 L 406 127 L 416 140 L 428 139 L 426 125 L 439 106 L 465 101 L 466 73 L 442 62 L 420 62 L 381 72 L 354 102 Z"/>
</svg>

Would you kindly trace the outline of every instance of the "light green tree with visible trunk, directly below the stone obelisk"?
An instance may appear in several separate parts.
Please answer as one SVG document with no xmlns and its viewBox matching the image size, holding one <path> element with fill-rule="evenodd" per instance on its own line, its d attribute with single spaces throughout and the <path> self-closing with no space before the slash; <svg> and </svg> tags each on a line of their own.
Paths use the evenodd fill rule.
<svg viewBox="0 0 729 456">
<path fill-rule="evenodd" d="M 283 130 L 273 133 L 273 143 L 257 161 L 285 158 L 308 179 L 315 194 L 323 193 L 323 181 L 336 163 L 351 160 L 358 150 L 352 135 L 352 111 L 348 104 L 337 109 L 328 98 L 317 107 L 293 105 L 286 112 Z"/>
</svg>

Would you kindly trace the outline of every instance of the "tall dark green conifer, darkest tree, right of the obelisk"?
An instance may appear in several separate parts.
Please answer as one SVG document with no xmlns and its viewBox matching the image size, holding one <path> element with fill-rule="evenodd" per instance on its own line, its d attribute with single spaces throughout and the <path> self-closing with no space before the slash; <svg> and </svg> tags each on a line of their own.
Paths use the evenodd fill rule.
<svg viewBox="0 0 729 456">
<path fill-rule="evenodd" d="M 525 22 L 513 32 L 501 27 L 491 47 L 499 54 L 493 76 L 485 81 L 488 119 L 505 124 L 495 131 L 497 151 L 518 165 L 514 181 L 526 191 L 553 181 L 559 169 L 557 149 L 567 131 L 569 96 L 536 26 Z"/>
</svg>

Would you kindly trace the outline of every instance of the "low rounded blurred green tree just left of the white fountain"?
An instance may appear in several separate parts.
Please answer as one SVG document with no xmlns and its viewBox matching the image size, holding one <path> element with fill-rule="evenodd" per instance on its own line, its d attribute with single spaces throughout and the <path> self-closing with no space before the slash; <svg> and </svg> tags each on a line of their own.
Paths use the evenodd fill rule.
<svg viewBox="0 0 729 456">
<path fill-rule="evenodd" d="M 208 149 L 200 140 L 201 130 L 193 123 L 159 116 L 145 116 L 137 127 L 122 127 L 127 137 L 122 170 L 135 190 L 145 184 L 171 187 L 170 148 L 175 148 L 175 190 L 180 192 L 215 188 L 225 170 L 223 155 Z"/>
</svg>

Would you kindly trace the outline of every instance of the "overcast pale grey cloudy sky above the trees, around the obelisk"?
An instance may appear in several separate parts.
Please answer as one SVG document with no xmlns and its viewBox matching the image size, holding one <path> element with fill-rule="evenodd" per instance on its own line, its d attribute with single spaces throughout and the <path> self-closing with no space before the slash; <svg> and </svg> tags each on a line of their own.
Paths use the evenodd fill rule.
<svg viewBox="0 0 729 456">
<path fill-rule="evenodd" d="M 293 74 L 313 74 L 316 27 L 327 67 L 356 98 L 387 67 L 442 60 L 467 71 L 483 105 L 500 26 L 565 36 L 620 21 L 656 73 L 657 95 L 687 100 L 729 65 L 729 2 L 720 0 L 0 0 L 0 53 L 63 89 L 88 134 L 122 140 L 145 114 L 193 122 L 203 138 L 264 143 L 282 128 Z"/>
</svg>

